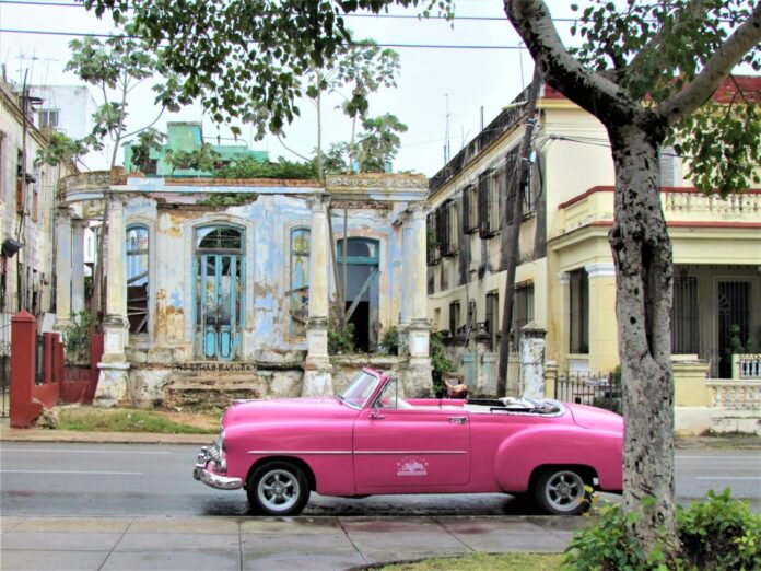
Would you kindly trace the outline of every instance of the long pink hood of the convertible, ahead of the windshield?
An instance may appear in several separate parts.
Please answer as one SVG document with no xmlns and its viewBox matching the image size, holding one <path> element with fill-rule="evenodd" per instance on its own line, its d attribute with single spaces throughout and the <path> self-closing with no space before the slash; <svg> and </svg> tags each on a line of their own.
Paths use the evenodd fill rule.
<svg viewBox="0 0 761 571">
<path fill-rule="evenodd" d="M 341 404 L 337 398 L 271 398 L 235 403 L 224 413 L 222 426 L 237 422 L 255 422 L 278 419 L 328 419 L 356 410 Z"/>
</svg>

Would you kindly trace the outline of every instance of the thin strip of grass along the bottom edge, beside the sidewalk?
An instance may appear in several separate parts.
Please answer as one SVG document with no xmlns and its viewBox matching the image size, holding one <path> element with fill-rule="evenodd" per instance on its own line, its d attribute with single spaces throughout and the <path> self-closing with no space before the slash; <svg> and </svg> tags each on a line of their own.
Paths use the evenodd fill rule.
<svg viewBox="0 0 761 571">
<path fill-rule="evenodd" d="M 384 571 L 433 571 L 461 569 L 506 571 L 552 571 L 561 569 L 563 553 L 473 553 L 465 557 L 425 559 L 414 563 L 386 566 Z"/>
</svg>

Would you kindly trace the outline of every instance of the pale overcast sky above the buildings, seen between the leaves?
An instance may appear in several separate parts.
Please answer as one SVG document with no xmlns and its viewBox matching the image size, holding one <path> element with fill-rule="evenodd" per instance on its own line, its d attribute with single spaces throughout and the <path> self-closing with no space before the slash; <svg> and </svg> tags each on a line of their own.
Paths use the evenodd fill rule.
<svg viewBox="0 0 761 571">
<path fill-rule="evenodd" d="M 47 3 L 47 5 L 43 5 Z M 57 33 L 108 33 L 110 16 L 103 21 L 73 0 L 0 0 L 0 63 L 5 66 L 8 79 L 21 82 L 28 70 L 33 85 L 75 85 L 82 82 L 63 68 L 69 59 L 68 43 L 75 35 L 43 35 L 11 31 L 45 31 Z M 56 5 L 68 4 L 68 5 Z M 569 2 L 549 0 L 554 18 L 571 18 Z M 378 44 L 481 46 L 470 48 L 395 47 L 401 61 L 397 89 L 383 90 L 371 96 L 371 115 L 393 113 L 409 130 L 401 136 L 401 148 L 394 161 L 395 171 L 412 171 L 434 175 L 448 156 L 476 137 L 483 124 L 488 125 L 530 82 L 534 65 L 520 47 L 518 35 L 507 21 L 502 0 L 456 0 L 457 18 L 453 26 L 444 20 L 417 18 L 348 18 L 349 27 L 356 38 L 370 37 Z M 395 10 L 393 14 L 414 16 L 414 10 Z M 477 18 L 478 20 L 468 20 Z M 495 20 L 482 20 L 495 19 Z M 571 25 L 557 23 L 566 35 Z M 496 49 L 495 47 L 510 47 Z M 152 105 L 150 80 L 140 85 L 129 100 L 128 128 L 138 129 L 150 124 L 157 114 Z M 96 102 L 97 92 L 91 89 Z M 339 97 L 324 105 L 324 140 L 348 141 L 351 124 L 336 106 Z M 285 144 L 298 154 L 311 156 L 317 141 L 317 120 L 314 106 L 298 104 L 302 115 L 286 127 Z M 189 106 L 176 114 L 164 114 L 156 124 L 164 130 L 166 121 L 202 121 L 203 135 L 209 142 L 230 143 L 226 127 L 218 127 L 203 116 L 203 109 Z M 448 137 L 447 137 L 448 133 Z M 283 148 L 277 138 L 268 136 L 251 140 L 251 130 L 243 128 L 242 139 L 251 149 L 268 151 L 270 159 L 283 156 L 300 160 Z M 107 159 L 89 161 L 91 170 L 107 166 Z M 121 163 L 121 159 L 119 160 Z"/>
</svg>

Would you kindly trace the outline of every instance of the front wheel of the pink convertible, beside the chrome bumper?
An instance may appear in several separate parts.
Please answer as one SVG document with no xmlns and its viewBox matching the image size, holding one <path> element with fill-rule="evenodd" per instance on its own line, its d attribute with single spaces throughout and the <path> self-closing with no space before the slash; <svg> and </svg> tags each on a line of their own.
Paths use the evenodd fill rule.
<svg viewBox="0 0 761 571">
<path fill-rule="evenodd" d="M 267 515 L 297 515 L 309 499 L 304 470 L 288 462 L 268 462 L 251 474 L 246 487 L 251 509 Z"/>
</svg>

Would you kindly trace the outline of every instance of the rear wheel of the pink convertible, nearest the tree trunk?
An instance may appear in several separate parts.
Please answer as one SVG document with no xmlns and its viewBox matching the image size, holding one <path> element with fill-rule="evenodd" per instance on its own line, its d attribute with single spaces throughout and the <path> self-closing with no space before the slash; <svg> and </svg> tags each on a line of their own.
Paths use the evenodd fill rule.
<svg viewBox="0 0 761 571">
<path fill-rule="evenodd" d="M 590 481 L 578 468 L 545 470 L 534 489 L 539 508 L 552 515 L 578 515 L 592 505 Z"/>
</svg>

